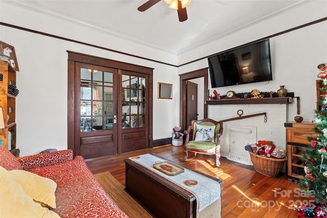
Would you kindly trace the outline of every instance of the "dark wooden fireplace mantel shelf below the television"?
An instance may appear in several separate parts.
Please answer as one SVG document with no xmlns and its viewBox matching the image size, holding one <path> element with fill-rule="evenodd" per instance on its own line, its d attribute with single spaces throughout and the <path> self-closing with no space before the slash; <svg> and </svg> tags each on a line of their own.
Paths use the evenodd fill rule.
<svg viewBox="0 0 327 218">
<path fill-rule="evenodd" d="M 245 104 L 288 104 L 292 103 L 291 97 L 262 98 L 262 99 L 221 99 L 207 100 L 207 105 L 245 105 Z"/>
</svg>

